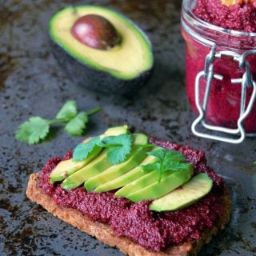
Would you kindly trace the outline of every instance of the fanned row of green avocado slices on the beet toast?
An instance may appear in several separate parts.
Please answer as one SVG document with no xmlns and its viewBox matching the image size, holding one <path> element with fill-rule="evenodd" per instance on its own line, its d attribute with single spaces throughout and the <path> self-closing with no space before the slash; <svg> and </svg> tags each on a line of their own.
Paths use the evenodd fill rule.
<svg viewBox="0 0 256 256">
<path fill-rule="evenodd" d="M 130 138 L 127 126 L 110 128 L 99 137 L 102 139 L 120 134 L 129 134 L 127 137 Z M 88 151 L 90 153 L 86 160 L 60 162 L 50 174 L 50 182 L 62 181 L 61 186 L 67 191 L 82 184 L 87 191 L 94 190 L 95 193 L 118 189 L 114 194 L 116 197 L 128 198 L 132 202 L 154 200 L 150 210 L 158 212 L 190 206 L 210 192 L 213 181 L 207 174 L 197 174 L 191 178 L 194 174 L 192 163 L 186 163 L 185 159 L 178 162 L 177 158 L 167 154 L 167 150 L 149 145 L 145 134 L 132 134 L 132 138 L 132 141 L 128 140 L 128 146 L 130 142 L 132 144 L 124 162 L 116 165 L 110 163 L 108 148 L 102 149 L 104 146 L 119 145 L 96 144 Z M 127 146 L 125 143 L 120 146 L 124 145 Z M 164 157 L 161 157 L 162 154 L 165 154 Z"/>
</svg>

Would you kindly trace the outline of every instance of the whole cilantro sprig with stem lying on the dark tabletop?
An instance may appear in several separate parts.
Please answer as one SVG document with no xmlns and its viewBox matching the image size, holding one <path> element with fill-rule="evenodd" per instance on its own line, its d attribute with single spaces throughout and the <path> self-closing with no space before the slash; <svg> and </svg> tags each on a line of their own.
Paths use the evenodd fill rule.
<svg viewBox="0 0 256 256">
<path fill-rule="evenodd" d="M 89 112 L 78 112 L 77 104 L 74 100 L 68 100 L 56 114 L 54 119 L 41 117 L 29 118 L 18 127 L 15 138 L 19 141 L 27 142 L 30 145 L 41 142 L 50 132 L 50 126 L 64 123 L 64 130 L 70 135 L 82 135 L 86 130 L 89 117 L 96 114 L 101 108 L 95 108 Z"/>
</svg>

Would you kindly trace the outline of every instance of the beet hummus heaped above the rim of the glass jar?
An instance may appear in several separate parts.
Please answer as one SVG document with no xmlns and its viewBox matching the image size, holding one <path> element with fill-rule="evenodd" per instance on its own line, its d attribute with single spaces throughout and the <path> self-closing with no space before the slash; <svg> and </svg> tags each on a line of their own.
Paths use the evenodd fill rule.
<svg viewBox="0 0 256 256">
<path fill-rule="evenodd" d="M 194 14 L 215 26 L 256 32 L 256 2 L 226 6 L 221 0 L 198 0 L 194 7 Z"/>
</svg>

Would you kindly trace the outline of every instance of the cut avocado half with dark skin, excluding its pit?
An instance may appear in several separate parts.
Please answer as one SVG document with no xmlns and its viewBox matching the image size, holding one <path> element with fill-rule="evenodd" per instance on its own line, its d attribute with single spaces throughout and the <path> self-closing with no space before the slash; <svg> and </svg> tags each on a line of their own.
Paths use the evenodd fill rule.
<svg viewBox="0 0 256 256">
<path fill-rule="evenodd" d="M 86 14 L 109 20 L 121 38 L 110 50 L 82 44 L 71 34 L 74 22 Z M 129 19 L 102 6 L 68 6 L 50 19 L 53 53 L 68 76 L 89 90 L 113 94 L 133 94 L 146 84 L 154 57 L 146 34 Z"/>
</svg>

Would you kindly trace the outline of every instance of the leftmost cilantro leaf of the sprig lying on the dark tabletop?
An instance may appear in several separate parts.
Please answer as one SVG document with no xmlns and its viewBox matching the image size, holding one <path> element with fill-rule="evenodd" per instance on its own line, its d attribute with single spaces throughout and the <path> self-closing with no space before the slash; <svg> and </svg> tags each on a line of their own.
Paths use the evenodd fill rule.
<svg viewBox="0 0 256 256">
<path fill-rule="evenodd" d="M 40 117 L 33 117 L 18 127 L 15 138 L 32 145 L 38 143 L 41 139 L 46 138 L 49 130 L 50 124 L 48 120 Z"/>
</svg>

